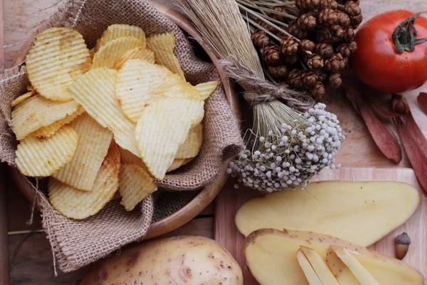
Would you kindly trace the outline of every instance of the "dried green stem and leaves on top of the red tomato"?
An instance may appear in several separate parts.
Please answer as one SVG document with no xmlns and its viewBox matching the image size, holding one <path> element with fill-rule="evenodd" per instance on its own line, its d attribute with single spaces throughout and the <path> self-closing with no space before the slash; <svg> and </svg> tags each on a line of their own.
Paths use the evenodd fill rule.
<svg viewBox="0 0 427 285">
<path fill-rule="evenodd" d="M 420 16 L 419 13 L 401 21 L 391 35 L 398 53 L 413 51 L 416 44 L 427 41 L 427 38 L 416 38 L 416 27 L 414 26 L 414 23 L 418 16 Z"/>
</svg>

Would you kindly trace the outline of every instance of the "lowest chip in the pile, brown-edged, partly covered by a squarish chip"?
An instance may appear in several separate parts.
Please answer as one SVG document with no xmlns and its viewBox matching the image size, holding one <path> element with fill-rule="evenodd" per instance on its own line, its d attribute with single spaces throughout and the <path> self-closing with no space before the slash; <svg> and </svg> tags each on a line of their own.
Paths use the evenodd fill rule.
<svg viewBox="0 0 427 285">
<path fill-rule="evenodd" d="M 52 206 L 65 217 L 85 219 L 109 202 L 119 188 L 120 152 L 113 142 L 97 173 L 91 191 L 81 191 L 51 178 L 48 195 Z"/>
</svg>

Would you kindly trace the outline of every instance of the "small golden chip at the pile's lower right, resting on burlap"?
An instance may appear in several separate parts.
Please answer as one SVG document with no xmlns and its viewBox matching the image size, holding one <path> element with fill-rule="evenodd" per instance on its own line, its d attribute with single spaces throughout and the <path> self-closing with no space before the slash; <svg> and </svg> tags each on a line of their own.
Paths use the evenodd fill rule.
<svg viewBox="0 0 427 285">
<path fill-rule="evenodd" d="M 139 202 L 157 191 L 154 180 L 138 165 L 122 165 L 119 175 L 119 192 L 126 211 L 132 211 Z"/>
</svg>

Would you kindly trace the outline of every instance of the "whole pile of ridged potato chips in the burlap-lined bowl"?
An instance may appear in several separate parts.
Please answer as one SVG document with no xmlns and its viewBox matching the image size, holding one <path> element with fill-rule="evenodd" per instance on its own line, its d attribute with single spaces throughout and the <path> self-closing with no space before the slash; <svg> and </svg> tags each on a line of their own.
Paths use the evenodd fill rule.
<svg viewBox="0 0 427 285">
<path fill-rule="evenodd" d="M 23 175 L 50 177 L 53 207 L 73 219 L 102 209 L 117 190 L 131 211 L 196 157 L 204 100 L 217 81 L 191 86 L 175 37 L 109 26 L 89 51 L 71 28 L 38 34 L 26 57 L 31 86 L 12 102 Z"/>
</svg>

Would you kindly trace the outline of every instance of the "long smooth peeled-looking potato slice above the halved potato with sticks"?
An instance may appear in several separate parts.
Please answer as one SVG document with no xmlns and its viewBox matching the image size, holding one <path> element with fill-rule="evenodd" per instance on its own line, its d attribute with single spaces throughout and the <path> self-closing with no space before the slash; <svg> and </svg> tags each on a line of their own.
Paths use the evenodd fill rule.
<svg viewBox="0 0 427 285">
<path fill-rule="evenodd" d="M 367 247 L 404 224 L 420 195 L 401 182 L 316 182 L 305 190 L 280 191 L 251 199 L 238 209 L 236 225 L 256 229 L 320 232 Z"/>
</svg>

